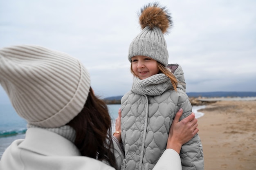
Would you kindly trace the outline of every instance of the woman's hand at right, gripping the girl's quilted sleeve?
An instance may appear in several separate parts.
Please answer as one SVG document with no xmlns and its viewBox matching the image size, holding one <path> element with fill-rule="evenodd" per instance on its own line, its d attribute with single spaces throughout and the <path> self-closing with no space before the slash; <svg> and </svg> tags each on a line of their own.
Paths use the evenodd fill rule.
<svg viewBox="0 0 256 170">
<path fill-rule="evenodd" d="M 181 108 L 173 119 L 166 146 L 166 149 L 171 148 L 177 153 L 180 153 L 181 146 L 192 139 L 199 131 L 195 113 L 191 113 L 191 115 L 179 121 L 182 113 L 183 110 Z"/>
</svg>

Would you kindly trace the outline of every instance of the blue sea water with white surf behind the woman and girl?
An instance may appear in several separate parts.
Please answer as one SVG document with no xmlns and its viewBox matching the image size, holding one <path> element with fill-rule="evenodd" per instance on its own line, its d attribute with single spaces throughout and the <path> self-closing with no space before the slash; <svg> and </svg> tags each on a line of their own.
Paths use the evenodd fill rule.
<svg viewBox="0 0 256 170">
<path fill-rule="evenodd" d="M 115 119 L 118 117 L 120 104 L 108 105 L 112 119 L 112 132 L 115 131 Z M 195 117 L 199 118 L 203 113 L 198 112 L 205 106 L 193 106 Z M 0 104 L 0 158 L 4 150 L 16 139 L 24 139 L 27 130 L 27 122 L 19 117 L 11 104 Z"/>
</svg>

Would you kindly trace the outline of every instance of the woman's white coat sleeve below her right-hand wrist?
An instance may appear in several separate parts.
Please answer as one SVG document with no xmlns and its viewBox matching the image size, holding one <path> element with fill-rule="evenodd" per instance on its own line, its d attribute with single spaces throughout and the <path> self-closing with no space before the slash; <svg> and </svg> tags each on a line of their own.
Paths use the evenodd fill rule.
<svg viewBox="0 0 256 170">
<path fill-rule="evenodd" d="M 180 155 L 173 149 L 166 149 L 153 170 L 182 170 Z"/>
</svg>

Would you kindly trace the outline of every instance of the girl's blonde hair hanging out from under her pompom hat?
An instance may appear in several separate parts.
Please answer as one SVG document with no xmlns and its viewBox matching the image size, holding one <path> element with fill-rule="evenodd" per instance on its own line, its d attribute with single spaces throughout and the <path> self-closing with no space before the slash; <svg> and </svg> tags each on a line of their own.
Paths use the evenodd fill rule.
<svg viewBox="0 0 256 170">
<path fill-rule="evenodd" d="M 178 80 L 176 79 L 175 75 L 173 75 L 173 73 L 168 68 L 166 68 L 162 63 L 160 63 L 160 62 L 157 62 L 157 67 L 159 69 L 159 73 L 163 73 L 163 74 L 165 74 L 167 77 L 169 77 L 171 79 L 171 83 L 173 84 L 173 88 L 174 88 L 175 91 L 177 91 Z M 134 71 L 132 70 L 132 64 L 131 64 L 130 70 L 131 70 L 131 73 L 133 75 L 138 77 L 134 73 Z"/>
</svg>

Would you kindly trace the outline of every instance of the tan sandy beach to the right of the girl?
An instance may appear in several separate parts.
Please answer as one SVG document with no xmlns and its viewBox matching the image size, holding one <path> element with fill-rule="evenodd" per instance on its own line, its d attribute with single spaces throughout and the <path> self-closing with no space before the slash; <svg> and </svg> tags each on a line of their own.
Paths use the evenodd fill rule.
<svg viewBox="0 0 256 170">
<path fill-rule="evenodd" d="M 256 169 L 256 100 L 207 104 L 198 118 L 205 170 Z"/>
</svg>

